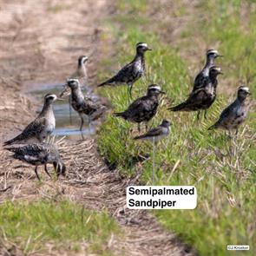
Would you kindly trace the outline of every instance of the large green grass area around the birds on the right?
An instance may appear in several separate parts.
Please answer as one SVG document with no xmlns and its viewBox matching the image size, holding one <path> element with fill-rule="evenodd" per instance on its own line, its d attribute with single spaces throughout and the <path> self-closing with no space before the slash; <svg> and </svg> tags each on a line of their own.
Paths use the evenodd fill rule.
<svg viewBox="0 0 256 256">
<path fill-rule="evenodd" d="M 158 114 L 151 121 L 152 126 L 159 124 L 163 118 L 174 123 L 169 138 L 157 146 L 157 185 L 194 185 L 199 196 L 195 210 L 153 213 L 163 226 L 177 233 L 200 255 L 236 255 L 226 251 L 228 244 L 248 244 L 251 250 L 239 255 L 255 255 L 255 113 L 250 113 L 246 125 L 240 129 L 240 137 L 234 142 L 222 131 L 207 131 L 221 109 L 232 100 L 226 95 L 218 95 L 207 120 L 196 121 L 193 113 L 169 112 L 167 106 L 181 102 L 192 87 L 187 69 L 189 63 L 181 59 L 176 47 L 161 40 L 157 30 L 150 30 L 151 12 L 145 5 L 143 1 L 140 4 L 135 0 L 120 1 L 118 15 L 111 20 L 111 35 L 108 35 L 114 36 L 117 41 L 115 50 L 118 54 L 114 60 L 104 60 L 108 69 L 99 80 L 113 74 L 118 66 L 132 58 L 135 43 L 145 41 L 154 49 L 146 54 L 147 77 L 135 83 L 133 97 L 144 95 L 151 82 L 161 84 L 167 92 L 167 96 L 161 98 Z M 175 10 L 175 14 L 187 14 L 186 8 L 186 5 L 181 6 L 181 11 Z M 235 95 L 240 80 L 249 81 L 255 97 L 256 23 L 253 21 L 256 20 L 256 13 L 249 10 L 247 23 L 242 23 L 241 8 L 244 5 L 240 1 L 201 1 L 196 10 L 204 13 L 207 19 L 200 23 L 197 20 L 199 17 L 194 15 L 194 23 L 187 24 L 182 36 L 186 37 L 186 42 L 189 42 L 187 47 L 190 48 L 193 48 L 194 35 L 200 36 L 207 45 L 218 43 L 221 54 L 226 56 L 220 62 L 225 77 L 220 77 L 219 81 L 220 84 L 222 81 L 229 82 L 227 85 L 222 82 L 221 86 L 230 86 Z M 218 12 L 220 15 L 217 15 Z M 164 25 L 159 21 L 159 28 Z M 243 26 L 249 26 L 250 33 Z M 106 88 L 101 92 L 108 97 L 115 111 L 128 107 L 125 86 Z M 129 132 L 131 128 L 134 128 L 133 132 Z M 151 144 L 133 141 L 132 137 L 136 134 L 135 125 L 109 115 L 98 137 L 99 148 L 102 155 L 121 172 L 128 175 L 140 172 L 141 181 L 151 184 L 151 158 L 135 164 L 139 156 L 151 156 Z"/>
</svg>

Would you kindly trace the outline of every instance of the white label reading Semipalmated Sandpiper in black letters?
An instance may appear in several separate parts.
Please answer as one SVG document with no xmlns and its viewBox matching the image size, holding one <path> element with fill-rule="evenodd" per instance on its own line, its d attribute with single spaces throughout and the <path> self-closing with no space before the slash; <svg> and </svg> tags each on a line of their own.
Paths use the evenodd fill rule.
<svg viewBox="0 0 256 256">
<path fill-rule="evenodd" d="M 194 186 L 130 186 L 126 190 L 129 209 L 194 209 Z"/>
</svg>

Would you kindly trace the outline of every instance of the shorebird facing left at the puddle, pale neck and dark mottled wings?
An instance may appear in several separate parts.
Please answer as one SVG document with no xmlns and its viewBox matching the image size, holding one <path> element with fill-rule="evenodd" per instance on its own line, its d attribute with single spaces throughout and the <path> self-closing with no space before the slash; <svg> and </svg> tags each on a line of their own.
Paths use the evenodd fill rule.
<svg viewBox="0 0 256 256">
<path fill-rule="evenodd" d="M 87 115 L 89 117 L 89 122 L 95 121 L 102 116 L 106 107 L 93 102 L 89 98 L 85 99 L 78 79 L 69 79 L 68 86 L 71 89 L 71 106 L 81 118 L 80 130 L 82 131 L 82 125 L 84 122 L 82 115 Z"/>
</svg>

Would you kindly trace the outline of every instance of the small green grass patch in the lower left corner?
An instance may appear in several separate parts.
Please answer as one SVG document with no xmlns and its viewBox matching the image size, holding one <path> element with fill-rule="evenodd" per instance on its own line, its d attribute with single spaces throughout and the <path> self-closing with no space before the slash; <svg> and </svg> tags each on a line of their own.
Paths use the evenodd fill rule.
<svg viewBox="0 0 256 256">
<path fill-rule="evenodd" d="M 6 202 L 0 206 L 0 237 L 16 244 L 24 253 L 54 248 L 79 251 L 89 243 L 89 251 L 111 255 L 106 246 L 119 227 L 108 213 L 95 213 L 69 201 Z"/>
</svg>

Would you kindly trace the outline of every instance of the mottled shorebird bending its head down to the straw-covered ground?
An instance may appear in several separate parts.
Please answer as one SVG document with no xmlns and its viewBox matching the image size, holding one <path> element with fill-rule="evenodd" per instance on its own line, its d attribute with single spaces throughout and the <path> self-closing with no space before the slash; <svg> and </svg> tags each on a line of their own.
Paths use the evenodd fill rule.
<svg viewBox="0 0 256 256">
<path fill-rule="evenodd" d="M 50 174 L 47 169 L 47 164 L 53 164 L 57 177 L 62 174 L 65 175 L 66 167 L 60 157 L 58 149 L 48 143 L 33 143 L 27 144 L 21 147 L 12 147 L 5 148 L 14 154 L 13 158 L 18 159 L 20 161 L 25 161 L 35 167 L 35 173 L 37 179 L 40 181 L 39 175 L 37 174 L 37 167 L 40 165 L 44 165 L 44 171 L 46 174 Z"/>
</svg>

